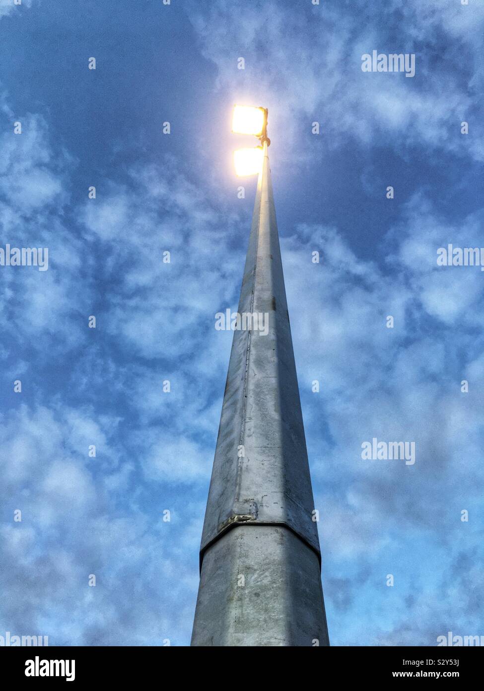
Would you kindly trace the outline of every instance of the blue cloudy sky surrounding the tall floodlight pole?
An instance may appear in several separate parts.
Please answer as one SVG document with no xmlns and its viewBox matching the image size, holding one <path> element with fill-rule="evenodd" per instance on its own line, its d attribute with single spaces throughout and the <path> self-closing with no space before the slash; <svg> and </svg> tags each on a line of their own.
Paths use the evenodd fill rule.
<svg viewBox="0 0 484 691">
<path fill-rule="evenodd" d="M 189 642 L 255 191 L 235 102 L 269 108 L 331 643 L 484 634 L 484 275 L 436 264 L 484 245 L 483 29 L 479 0 L 0 0 L 0 246 L 49 251 L 0 267 L 0 634 Z"/>
</svg>

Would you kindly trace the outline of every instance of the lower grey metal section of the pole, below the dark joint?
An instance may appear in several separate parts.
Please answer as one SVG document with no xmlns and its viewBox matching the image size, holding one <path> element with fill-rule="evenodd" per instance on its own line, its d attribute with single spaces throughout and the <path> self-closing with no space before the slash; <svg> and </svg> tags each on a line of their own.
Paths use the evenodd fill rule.
<svg viewBox="0 0 484 691">
<path fill-rule="evenodd" d="M 191 645 L 329 645 L 316 553 L 280 526 L 225 533 L 204 557 Z"/>
</svg>

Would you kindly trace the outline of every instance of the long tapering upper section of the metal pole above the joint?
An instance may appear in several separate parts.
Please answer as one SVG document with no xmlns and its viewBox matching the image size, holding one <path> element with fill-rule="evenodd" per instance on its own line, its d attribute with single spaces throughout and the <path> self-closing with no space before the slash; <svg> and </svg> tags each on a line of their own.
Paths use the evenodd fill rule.
<svg viewBox="0 0 484 691">
<path fill-rule="evenodd" d="M 269 332 L 234 332 L 202 552 L 234 522 L 251 521 L 286 524 L 319 553 L 269 158 L 267 146 L 264 148 L 238 313 L 266 314 Z"/>
</svg>

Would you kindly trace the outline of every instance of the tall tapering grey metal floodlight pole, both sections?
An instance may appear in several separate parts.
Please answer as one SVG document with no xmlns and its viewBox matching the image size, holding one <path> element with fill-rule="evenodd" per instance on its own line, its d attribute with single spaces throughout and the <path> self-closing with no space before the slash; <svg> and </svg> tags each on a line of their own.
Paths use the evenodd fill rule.
<svg viewBox="0 0 484 691">
<path fill-rule="evenodd" d="M 329 645 L 320 547 L 263 141 L 200 549 L 191 645 Z M 265 324 L 265 321 L 263 322 Z"/>
</svg>

